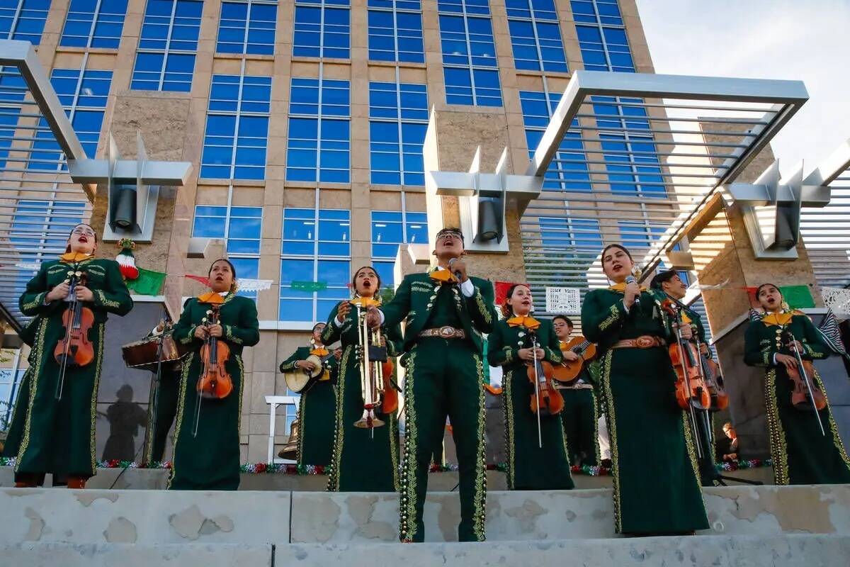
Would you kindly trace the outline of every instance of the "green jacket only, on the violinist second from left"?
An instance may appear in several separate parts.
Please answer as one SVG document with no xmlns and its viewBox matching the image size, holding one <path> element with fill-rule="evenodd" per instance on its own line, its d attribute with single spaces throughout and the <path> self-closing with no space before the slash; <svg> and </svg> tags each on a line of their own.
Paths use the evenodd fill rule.
<svg viewBox="0 0 850 567">
<path fill-rule="evenodd" d="M 187 299 L 180 320 L 174 325 L 174 340 L 189 344 L 192 350 L 200 350 L 204 342 L 195 337 L 195 329 L 207 317 L 209 309 L 212 306 L 200 303 L 198 298 Z M 252 347 L 260 342 L 257 303 L 252 299 L 228 293 L 224 303 L 219 305 L 218 320 L 223 331 L 220 338 L 227 343 L 231 354 L 241 355 L 244 347 Z"/>
</svg>

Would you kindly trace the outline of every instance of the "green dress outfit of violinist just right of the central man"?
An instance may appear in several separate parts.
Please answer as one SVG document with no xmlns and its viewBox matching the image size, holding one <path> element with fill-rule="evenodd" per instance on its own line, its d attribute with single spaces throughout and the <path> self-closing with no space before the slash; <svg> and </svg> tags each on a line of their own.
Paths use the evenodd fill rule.
<svg viewBox="0 0 850 567">
<path fill-rule="evenodd" d="M 544 360 L 559 364 L 561 350 L 552 321 L 539 323 L 535 332 L 546 353 Z M 541 415 L 542 447 L 537 437 L 537 414 L 530 408 L 535 388 L 528 378 L 528 366 L 519 359 L 519 349 L 530 347 L 528 328 L 512 326 L 507 320 L 496 323 L 496 328 L 487 337 L 487 360 L 490 366 L 502 367 L 507 487 L 510 490 L 570 490 L 575 485 L 570 475 L 570 451 L 561 422 L 563 411 L 554 416 Z"/>
</svg>

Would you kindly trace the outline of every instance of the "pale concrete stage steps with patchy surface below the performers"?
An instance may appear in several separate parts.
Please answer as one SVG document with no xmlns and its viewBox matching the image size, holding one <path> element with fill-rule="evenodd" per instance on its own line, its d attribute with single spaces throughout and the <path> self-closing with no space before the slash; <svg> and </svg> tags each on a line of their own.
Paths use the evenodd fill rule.
<svg viewBox="0 0 850 567">
<path fill-rule="evenodd" d="M 730 486 L 704 496 L 711 530 L 622 538 L 610 490 L 491 490 L 481 545 L 451 542 L 457 496 L 433 492 L 429 542 L 400 545 L 394 494 L 3 488 L 0 565 L 847 564 L 850 485 Z"/>
</svg>

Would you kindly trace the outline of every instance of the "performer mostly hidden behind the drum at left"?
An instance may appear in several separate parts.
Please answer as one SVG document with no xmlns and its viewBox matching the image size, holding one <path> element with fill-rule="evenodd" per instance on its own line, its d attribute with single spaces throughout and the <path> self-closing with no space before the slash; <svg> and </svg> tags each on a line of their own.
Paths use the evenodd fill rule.
<svg viewBox="0 0 850 567">
<path fill-rule="evenodd" d="M 171 320 L 160 320 L 153 328 L 148 337 L 159 337 L 163 332 L 169 333 L 173 330 Z M 177 417 L 177 407 L 180 400 L 180 377 L 183 373 L 183 365 L 179 360 L 163 362 L 160 369 L 159 383 L 156 383 L 156 370 L 153 370 L 156 391 L 154 392 L 154 403 L 150 404 L 148 422 L 152 423 L 150 428 L 150 444 L 147 446 L 148 454 L 144 461 L 149 464 L 161 462 L 165 456 L 165 445 L 168 432 Z"/>
</svg>

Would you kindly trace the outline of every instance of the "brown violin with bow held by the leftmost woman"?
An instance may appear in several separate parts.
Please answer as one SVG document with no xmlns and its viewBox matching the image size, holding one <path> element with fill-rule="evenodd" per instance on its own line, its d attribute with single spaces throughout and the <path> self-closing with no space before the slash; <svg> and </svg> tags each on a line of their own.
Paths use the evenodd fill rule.
<svg viewBox="0 0 850 567">
<path fill-rule="evenodd" d="M 94 360 L 94 345 L 88 340 L 88 331 L 94 326 L 94 312 L 77 299 L 77 286 L 86 285 L 86 275 L 79 271 L 68 272 L 68 308 L 62 314 L 65 337 L 54 348 L 54 360 L 59 364 L 59 383 L 56 399 L 62 397 L 65 386 L 65 369 L 87 366 Z"/>
</svg>

